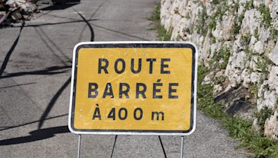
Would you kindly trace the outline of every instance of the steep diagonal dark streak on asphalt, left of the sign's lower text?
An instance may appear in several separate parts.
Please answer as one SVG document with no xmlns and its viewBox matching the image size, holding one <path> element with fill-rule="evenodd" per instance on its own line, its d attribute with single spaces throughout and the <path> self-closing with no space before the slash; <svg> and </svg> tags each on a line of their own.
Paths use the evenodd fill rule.
<svg viewBox="0 0 278 158">
<path fill-rule="evenodd" d="M 67 79 L 67 81 L 64 83 L 62 87 L 57 91 L 57 93 L 51 98 L 49 104 L 47 105 L 47 109 L 44 110 L 44 113 L 40 117 L 40 121 L 38 124 L 38 129 L 42 128 L 42 125 L 44 123 L 44 120 L 47 118 L 47 115 L 51 111 L 52 107 L 54 107 L 56 100 L 58 100 L 59 96 L 62 94 L 62 92 L 67 88 L 68 85 L 70 85 L 71 77 Z"/>
</svg>

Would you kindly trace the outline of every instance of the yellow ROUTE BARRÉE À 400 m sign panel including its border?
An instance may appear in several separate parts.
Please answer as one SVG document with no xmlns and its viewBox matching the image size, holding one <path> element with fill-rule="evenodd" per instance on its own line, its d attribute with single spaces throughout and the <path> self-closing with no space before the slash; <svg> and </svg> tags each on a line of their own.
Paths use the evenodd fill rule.
<svg viewBox="0 0 278 158">
<path fill-rule="evenodd" d="M 197 49 L 186 42 L 85 42 L 74 48 L 69 128 L 76 134 L 188 135 Z"/>
</svg>

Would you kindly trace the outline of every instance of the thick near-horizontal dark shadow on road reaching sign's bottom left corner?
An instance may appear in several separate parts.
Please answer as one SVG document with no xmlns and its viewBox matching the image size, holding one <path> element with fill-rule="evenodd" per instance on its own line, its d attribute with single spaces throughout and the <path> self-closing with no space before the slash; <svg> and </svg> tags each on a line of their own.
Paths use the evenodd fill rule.
<svg viewBox="0 0 278 158">
<path fill-rule="evenodd" d="M 58 126 L 58 127 L 54 127 L 54 128 L 44 128 L 44 129 L 40 129 L 40 130 L 33 130 L 33 131 L 29 132 L 29 134 L 31 134 L 31 135 L 28 135 L 28 136 L 1 140 L 0 146 L 8 146 L 8 145 L 19 144 L 19 143 L 40 141 L 42 139 L 49 139 L 51 137 L 54 137 L 55 134 L 67 133 L 67 132 L 70 132 L 70 130 L 67 128 L 67 125 Z"/>
</svg>

